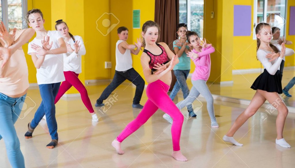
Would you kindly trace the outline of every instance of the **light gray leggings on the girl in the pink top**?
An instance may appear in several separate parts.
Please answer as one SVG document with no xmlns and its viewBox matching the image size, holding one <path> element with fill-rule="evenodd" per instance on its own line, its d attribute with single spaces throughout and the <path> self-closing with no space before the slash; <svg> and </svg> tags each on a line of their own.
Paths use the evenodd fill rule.
<svg viewBox="0 0 295 168">
<path fill-rule="evenodd" d="M 214 106 L 213 106 L 213 97 L 210 93 L 206 81 L 205 80 L 191 80 L 193 87 L 189 92 L 189 96 L 186 99 L 182 100 L 181 102 L 177 103 L 176 106 L 178 109 L 182 109 L 183 107 L 190 105 L 202 94 L 206 101 L 207 101 L 207 110 L 211 119 L 211 122 L 216 122 L 215 114 L 214 114 Z"/>
</svg>

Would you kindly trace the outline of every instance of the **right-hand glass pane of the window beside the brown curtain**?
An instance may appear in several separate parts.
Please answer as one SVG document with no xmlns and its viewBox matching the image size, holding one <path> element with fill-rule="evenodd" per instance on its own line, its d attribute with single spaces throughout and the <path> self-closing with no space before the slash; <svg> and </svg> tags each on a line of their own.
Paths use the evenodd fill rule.
<svg viewBox="0 0 295 168">
<path fill-rule="evenodd" d="M 188 20 L 188 22 L 190 22 L 190 27 L 188 27 L 188 29 L 196 32 L 200 37 L 203 37 L 204 0 L 190 0 L 190 6 L 191 18 Z"/>
</svg>

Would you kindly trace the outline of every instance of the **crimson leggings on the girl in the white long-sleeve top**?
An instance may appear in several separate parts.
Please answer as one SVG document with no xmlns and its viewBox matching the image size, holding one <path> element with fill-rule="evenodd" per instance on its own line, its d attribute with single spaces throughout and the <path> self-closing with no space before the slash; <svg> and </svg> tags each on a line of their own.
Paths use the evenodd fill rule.
<svg viewBox="0 0 295 168">
<path fill-rule="evenodd" d="M 65 94 L 68 89 L 70 89 L 72 86 L 75 87 L 78 92 L 81 94 L 81 99 L 86 108 L 90 113 L 94 112 L 93 107 L 91 105 L 91 102 L 88 97 L 88 93 L 82 82 L 79 80 L 78 75 L 73 71 L 64 71 L 63 74 L 65 74 L 65 81 L 61 83 L 60 88 L 58 90 L 58 94 L 55 97 L 54 104 L 58 102 L 60 97 Z"/>
</svg>

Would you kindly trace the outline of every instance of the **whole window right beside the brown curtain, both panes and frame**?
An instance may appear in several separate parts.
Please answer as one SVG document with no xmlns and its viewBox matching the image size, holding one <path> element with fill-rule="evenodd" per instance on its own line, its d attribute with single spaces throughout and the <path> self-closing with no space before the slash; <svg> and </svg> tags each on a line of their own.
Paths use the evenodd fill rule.
<svg viewBox="0 0 295 168">
<path fill-rule="evenodd" d="M 204 0 L 179 0 L 179 23 L 186 23 L 188 30 L 203 37 Z"/>
</svg>

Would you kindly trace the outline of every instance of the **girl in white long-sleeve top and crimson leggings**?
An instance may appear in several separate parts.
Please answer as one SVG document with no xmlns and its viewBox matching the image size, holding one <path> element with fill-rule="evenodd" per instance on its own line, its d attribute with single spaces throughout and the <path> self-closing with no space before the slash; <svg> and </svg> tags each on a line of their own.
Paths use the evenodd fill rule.
<svg viewBox="0 0 295 168">
<path fill-rule="evenodd" d="M 85 55 L 86 53 L 82 37 L 78 35 L 73 36 L 69 32 L 69 28 L 67 24 L 63 22 L 63 20 L 56 21 L 55 29 L 61 32 L 61 34 L 63 35 L 67 45 L 68 52 L 63 54 L 63 73 L 65 75 L 65 81 L 63 81 L 63 83 L 60 85 L 54 103 L 56 104 L 60 97 L 62 97 L 63 94 L 65 94 L 65 92 L 73 86 L 81 94 L 81 99 L 88 111 L 90 112 L 92 116 L 92 121 L 98 122 L 98 117 L 91 105 L 87 90 L 78 78 L 78 75 L 82 72 L 81 56 Z"/>
</svg>

